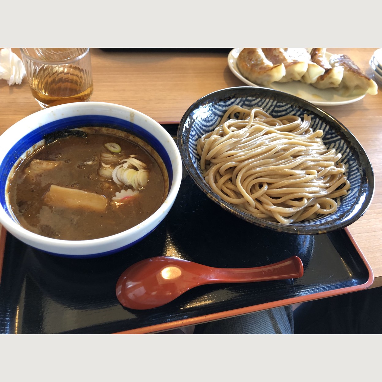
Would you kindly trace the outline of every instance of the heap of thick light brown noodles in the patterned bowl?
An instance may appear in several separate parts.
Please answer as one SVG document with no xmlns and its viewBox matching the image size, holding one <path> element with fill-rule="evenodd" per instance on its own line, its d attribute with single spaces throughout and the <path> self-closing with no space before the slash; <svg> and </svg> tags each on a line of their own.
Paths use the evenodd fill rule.
<svg viewBox="0 0 382 382">
<path fill-rule="evenodd" d="M 334 199 L 350 189 L 346 168 L 310 125 L 308 115 L 232 106 L 197 142 L 207 183 L 238 209 L 283 224 L 335 212 Z"/>
</svg>

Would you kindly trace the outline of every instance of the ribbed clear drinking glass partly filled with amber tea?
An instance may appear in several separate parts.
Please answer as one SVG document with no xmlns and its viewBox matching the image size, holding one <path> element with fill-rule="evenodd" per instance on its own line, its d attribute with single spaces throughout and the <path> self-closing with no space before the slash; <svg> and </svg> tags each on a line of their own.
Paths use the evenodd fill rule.
<svg viewBox="0 0 382 382">
<path fill-rule="evenodd" d="M 90 48 L 20 48 L 20 52 L 32 95 L 41 108 L 90 99 Z"/>
</svg>

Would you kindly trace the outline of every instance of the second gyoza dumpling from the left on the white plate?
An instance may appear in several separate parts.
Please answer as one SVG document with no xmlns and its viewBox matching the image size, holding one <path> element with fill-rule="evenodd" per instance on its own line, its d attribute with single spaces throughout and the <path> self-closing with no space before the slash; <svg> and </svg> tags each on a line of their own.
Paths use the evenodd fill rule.
<svg viewBox="0 0 382 382">
<path fill-rule="evenodd" d="M 285 76 L 278 82 L 299 81 L 308 69 L 308 63 L 292 60 L 283 48 L 262 48 L 262 51 L 273 65 L 284 64 Z"/>
</svg>

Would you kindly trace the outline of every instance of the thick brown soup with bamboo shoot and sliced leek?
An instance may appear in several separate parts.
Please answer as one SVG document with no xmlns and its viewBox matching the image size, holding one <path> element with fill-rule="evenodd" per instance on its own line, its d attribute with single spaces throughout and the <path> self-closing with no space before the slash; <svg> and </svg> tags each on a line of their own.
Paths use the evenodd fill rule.
<svg viewBox="0 0 382 382">
<path fill-rule="evenodd" d="M 164 165 L 152 153 L 141 142 L 104 133 L 45 144 L 8 181 L 13 214 L 24 228 L 62 240 L 125 231 L 167 197 Z"/>
</svg>

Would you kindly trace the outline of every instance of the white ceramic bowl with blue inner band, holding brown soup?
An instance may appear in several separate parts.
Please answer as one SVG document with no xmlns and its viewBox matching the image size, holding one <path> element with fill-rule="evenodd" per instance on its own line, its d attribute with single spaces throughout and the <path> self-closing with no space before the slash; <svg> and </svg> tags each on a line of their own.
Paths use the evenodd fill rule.
<svg viewBox="0 0 382 382">
<path fill-rule="evenodd" d="M 116 235 L 94 240 L 59 240 L 32 233 L 10 213 L 5 194 L 8 174 L 17 160 L 43 136 L 80 126 L 113 126 L 138 135 L 162 158 L 169 177 L 167 199 L 149 218 Z M 172 136 L 152 118 L 129 107 L 105 102 L 76 102 L 33 113 L 0 136 L 0 224 L 13 236 L 42 251 L 65 257 L 97 257 L 121 251 L 149 235 L 168 214 L 178 194 L 182 162 Z"/>
</svg>

